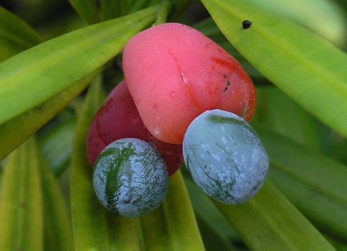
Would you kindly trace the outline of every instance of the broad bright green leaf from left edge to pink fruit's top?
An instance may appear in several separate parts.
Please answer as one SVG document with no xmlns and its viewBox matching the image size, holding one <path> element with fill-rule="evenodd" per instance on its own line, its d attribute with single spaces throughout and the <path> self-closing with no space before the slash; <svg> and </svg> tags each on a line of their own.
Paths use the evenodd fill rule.
<svg viewBox="0 0 347 251">
<path fill-rule="evenodd" d="M 155 6 L 79 29 L 0 63 L 0 124 L 106 63 L 130 37 L 155 20 L 156 11 Z"/>
</svg>

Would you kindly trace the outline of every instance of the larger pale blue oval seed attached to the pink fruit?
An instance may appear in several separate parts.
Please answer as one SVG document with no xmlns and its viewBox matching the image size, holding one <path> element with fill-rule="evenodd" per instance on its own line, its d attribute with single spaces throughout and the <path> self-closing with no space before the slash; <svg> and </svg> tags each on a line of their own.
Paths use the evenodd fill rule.
<svg viewBox="0 0 347 251">
<path fill-rule="evenodd" d="M 188 126 L 183 157 L 195 183 L 226 204 L 252 198 L 268 169 L 266 151 L 253 128 L 218 109 L 202 113 Z"/>
</svg>

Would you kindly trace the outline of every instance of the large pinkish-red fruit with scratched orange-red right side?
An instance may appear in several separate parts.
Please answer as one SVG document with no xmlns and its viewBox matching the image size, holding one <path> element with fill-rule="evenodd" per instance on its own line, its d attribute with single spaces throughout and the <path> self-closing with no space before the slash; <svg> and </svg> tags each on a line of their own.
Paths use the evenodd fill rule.
<svg viewBox="0 0 347 251">
<path fill-rule="evenodd" d="M 197 30 L 166 23 L 130 39 L 123 70 L 144 125 L 156 138 L 181 144 L 199 114 L 215 108 L 252 118 L 256 92 L 242 66 Z"/>
</svg>

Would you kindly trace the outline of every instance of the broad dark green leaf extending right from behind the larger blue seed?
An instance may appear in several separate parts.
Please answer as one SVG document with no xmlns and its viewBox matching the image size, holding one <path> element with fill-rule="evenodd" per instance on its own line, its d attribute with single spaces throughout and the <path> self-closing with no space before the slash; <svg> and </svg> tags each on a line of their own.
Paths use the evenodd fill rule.
<svg viewBox="0 0 347 251">
<path fill-rule="evenodd" d="M 347 168 L 262 126 L 268 178 L 322 231 L 347 240 Z"/>
</svg>

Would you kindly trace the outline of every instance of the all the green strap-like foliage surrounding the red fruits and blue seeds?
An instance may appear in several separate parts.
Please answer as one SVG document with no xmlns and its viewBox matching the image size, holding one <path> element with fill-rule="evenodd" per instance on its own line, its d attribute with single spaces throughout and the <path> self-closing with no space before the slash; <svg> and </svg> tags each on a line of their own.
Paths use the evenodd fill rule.
<svg viewBox="0 0 347 251">
<path fill-rule="evenodd" d="M 1 251 L 347 250 L 346 1 L 0 4 Z M 87 130 L 123 79 L 126 42 L 166 21 L 200 30 L 249 73 L 269 174 L 228 206 L 181 167 L 161 207 L 126 219 L 94 195 Z"/>
</svg>

